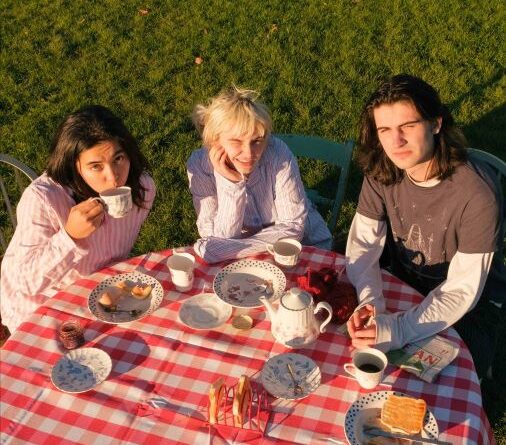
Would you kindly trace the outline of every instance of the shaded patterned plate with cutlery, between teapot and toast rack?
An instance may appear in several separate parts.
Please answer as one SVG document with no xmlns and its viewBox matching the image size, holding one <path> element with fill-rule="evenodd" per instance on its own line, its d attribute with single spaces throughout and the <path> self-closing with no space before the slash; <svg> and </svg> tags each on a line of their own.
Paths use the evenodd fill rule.
<svg viewBox="0 0 506 445">
<path fill-rule="evenodd" d="M 288 371 L 288 363 L 292 364 L 295 379 L 302 387 L 301 394 L 295 395 L 295 385 Z M 309 357 L 288 352 L 267 360 L 262 369 L 261 380 L 265 390 L 274 397 L 296 400 L 307 397 L 320 386 L 322 373 Z"/>
</svg>

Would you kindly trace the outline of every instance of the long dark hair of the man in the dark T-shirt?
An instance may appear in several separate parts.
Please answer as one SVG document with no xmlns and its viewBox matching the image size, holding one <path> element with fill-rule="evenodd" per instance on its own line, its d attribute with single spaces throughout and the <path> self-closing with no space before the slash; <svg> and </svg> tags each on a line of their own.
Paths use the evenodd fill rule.
<svg viewBox="0 0 506 445">
<path fill-rule="evenodd" d="M 467 160 L 466 140 L 455 126 L 448 108 L 441 103 L 439 94 L 427 82 L 408 74 L 399 74 L 383 82 L 364 106 L 360 119 L 358 162 L 364 174 L 391 185 L 404 177 L 404 171 L 395 166 L 381 146 L 374 121 L 374 109 L 383 104 L 409 102 L 420 116 L 430 122 L 442 118 L 441 129 L 434 135 L 434 161 L 429 177 L 444 179 L 455 167 Z"/>
</svg>

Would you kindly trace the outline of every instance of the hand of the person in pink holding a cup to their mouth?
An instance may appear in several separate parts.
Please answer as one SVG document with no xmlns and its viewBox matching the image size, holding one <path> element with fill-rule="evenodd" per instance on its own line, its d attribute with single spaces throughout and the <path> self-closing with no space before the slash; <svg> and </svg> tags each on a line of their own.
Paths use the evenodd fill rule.
<svg viewBox="0 0 506 445">
<path fill-rule="evenodd" d="M 104 215 L 104 206 L 100 201 L 87 199 L 70 209 L 65 231 L 76 240 L 87 238 L 100 227 Z"/>
</svg>

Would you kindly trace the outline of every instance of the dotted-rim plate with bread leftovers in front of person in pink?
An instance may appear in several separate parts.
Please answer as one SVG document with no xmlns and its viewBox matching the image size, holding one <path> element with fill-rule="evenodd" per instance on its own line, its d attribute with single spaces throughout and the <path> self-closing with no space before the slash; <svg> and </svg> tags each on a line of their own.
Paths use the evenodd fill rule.
<svg viewBox="0 0 506 445">
<path fill-rule="evenodd" d="M 139 300 L 132 296 L 121 300 L 117 309 L 127 312 L 106 312 L 98 303 L 98 300 L 108 287 L 114 286 L 121 281 L 130 282 L 129 284 L 132 285 L 139 283 L 149 284 L 153 290 L 151 291 L 151 295 L 144 300 Z M 88 298 L 88 307 L 91 313 L 99 320 L 105 323 L 120 324 L 144 318 L 146 315 L 155 311 L 155 309 L 160 306 L 162 300 L 163 287 L 156 278 L 140 272 L 130 272 L 107 278 L 97 285 L 97 287 L 91 291 L 90 297 Z M 136 313 L 131 314 L 128 311 L 136 311 Z"/>
</svg>

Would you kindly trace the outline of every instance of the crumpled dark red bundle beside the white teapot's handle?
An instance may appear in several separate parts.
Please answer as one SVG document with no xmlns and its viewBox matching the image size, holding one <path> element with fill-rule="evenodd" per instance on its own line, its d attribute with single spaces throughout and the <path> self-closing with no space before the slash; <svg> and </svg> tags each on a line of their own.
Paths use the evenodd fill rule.
<svg viewBox="0 0 506 445">
<path fill-rule="evenodd" d="M 297 286 L 309 292 L 315 301 L 326 301 L 332 307 L 332 322 L 343 324 L 357 307 L 355 288 L 341 278 L 342 273 L 331 267 L 307 269 L 297 277 Z"/>
</svg>

